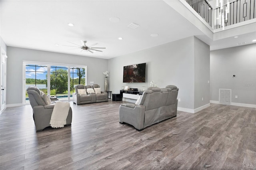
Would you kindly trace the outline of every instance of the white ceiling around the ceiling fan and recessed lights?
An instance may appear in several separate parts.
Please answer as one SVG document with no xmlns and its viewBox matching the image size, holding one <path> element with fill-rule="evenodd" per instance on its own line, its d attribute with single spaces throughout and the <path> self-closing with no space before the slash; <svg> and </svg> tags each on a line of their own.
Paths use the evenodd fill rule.
<svg viewBox="0 0 256 170">
<path fill-rule="evenodd" d="M 120 22 L 110 22 L 111 17 L 120 18 Z M 0 22 L 0 34 L 8 46 L 105 59 L 189 36 L 204 36 L 162 0 L 1 0 Z M 140 26 L 128 28 L 131 23 Z M 153 33 L 159 36 L 151 37 Z M 251 35 L 254 34 L 246 37 L 250 39 Z M 234 43 L 233 39 L 205 42 L 220 49 Z M 92 54 L 63 46 L 73 46 L 69 42 L 80 45 L 80 40 L 86 40 L 87 45 L 98 43 L 94 47 L 106 49 Z"/>
</svg>

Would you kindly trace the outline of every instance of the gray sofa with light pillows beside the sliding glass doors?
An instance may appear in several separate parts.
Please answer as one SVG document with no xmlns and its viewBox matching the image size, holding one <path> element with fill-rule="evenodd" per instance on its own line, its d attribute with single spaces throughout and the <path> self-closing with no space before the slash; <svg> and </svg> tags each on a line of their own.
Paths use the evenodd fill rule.
<svg viewBox="0 0 256 170">
<path fill-rule="evenodd" d="M 104 91 L 100 91 L 100 94 L 86 94 L 82 95 L 78 93 L 78 89 L 94 89 L 94 88 L 100 88 L 98 84 L 93 85 L 76 85 L 76 93 L 73 93 L 73 103 L 76 103 L 76 105 L 82 105 L 86 103 L 98 103 L 98 102 L 104 102 L 108 101 L 108 93 Z"/>
</svg>

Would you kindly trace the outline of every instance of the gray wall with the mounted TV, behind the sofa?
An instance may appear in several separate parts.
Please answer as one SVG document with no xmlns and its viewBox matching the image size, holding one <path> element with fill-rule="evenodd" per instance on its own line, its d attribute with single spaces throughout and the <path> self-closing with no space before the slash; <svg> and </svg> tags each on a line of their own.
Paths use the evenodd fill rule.
<svg viewBox="0 0 256 170">
<path fill-rule="evenodd" d="M 180 90 L 178 98 L 181 101 L 178 103 L 178 107 L 195 109 L 194 105 L 194 74 L 198 71 L 194 69 L 194 42 L 196 42 L 197 66 L 201 64 L 208 64 L 208 66 L 202 66 L 203 69 L 210 67 L 209 64 L 209 46 L 202 43 L 200 40 L 194 37 L 184 38 L 175 42 L 166 43 L 157 47 L 144 49 L 128 55 L 115 57 L 109 59 L 108 67 L 110 71 L 110 90 L 113 93 L 119 93 L 122 86 L 129 86 L 139 88 L 142 90 L 142 86 L 150 86 L 150 81 L 158 85 L 158 87 L 166 87 L 166 85 L 176 85 Z M 202 46 L 200 46 L 202 45 Z M 200 48 L 200 49 L 199 49 Z M 202 50 L 203 52 L 199 52 Z M 200 61 L 201 58 L 206 57 L 208 59 Z M 126 65 L 145 63 L 146 62 L 146 83 L 122 83 L 123 67 Z M 201 70 L 200 77 L 202 75 Z M 209 79 L 209 71 L 204 73 L 204 79 Z M 207 77 L 207 78 L 206 78 Z M 200 81 L 198 81 L 200 83 Z M 197 84 L 196 84 L 197 85 Z M 204 89 L 200 96 L 206 96 L 209 103 L 209 87 L 203 87 L 200 84 L 199 89 Z M 208 85 L 209 86 L 209 85 Z M 205 92 L 206 91 L 206 92 Z M 208 97 L 207 97 L 208 96 Z M 205 102 L 201 101 L 196 103 L 196 107 L 201 107 Z"/>
</svg>

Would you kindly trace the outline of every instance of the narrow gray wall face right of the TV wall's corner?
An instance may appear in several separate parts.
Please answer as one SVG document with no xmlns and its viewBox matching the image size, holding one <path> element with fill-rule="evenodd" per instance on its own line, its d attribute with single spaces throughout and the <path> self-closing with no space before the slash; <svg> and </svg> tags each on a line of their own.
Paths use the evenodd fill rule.
<svg viewBox="0 0 256 170">
<path fill-rule="evenodd" d="M 195 91 L 194 108 L 210 103 L 210 46 L 198 38 L 194 41 Z M 203 97 L 203 101 L 202 101 Z"/>
</svg>

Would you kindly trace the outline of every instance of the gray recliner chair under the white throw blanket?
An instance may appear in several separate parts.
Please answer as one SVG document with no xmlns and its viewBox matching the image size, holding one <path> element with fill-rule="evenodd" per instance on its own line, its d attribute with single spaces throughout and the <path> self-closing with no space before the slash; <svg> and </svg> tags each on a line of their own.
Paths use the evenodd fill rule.
<svg viewBox="0 0 256 170">
<path fill-rule="evenodd" d="M 50 126 L 54 104 L 52 104 L 50 98 L 36 86 L 28 87 L 27 93 L 30 105 L 33 109 L 33 119 L 36 125 L 36 132 L 40 132 L 44 130 L 44 128 Z M 68 117 L 66 119 L 66 126 L 70 126 L 71 123 L 72 109 L 70 107 Z"/>
</svg>

